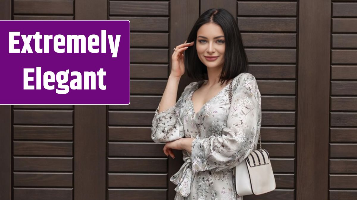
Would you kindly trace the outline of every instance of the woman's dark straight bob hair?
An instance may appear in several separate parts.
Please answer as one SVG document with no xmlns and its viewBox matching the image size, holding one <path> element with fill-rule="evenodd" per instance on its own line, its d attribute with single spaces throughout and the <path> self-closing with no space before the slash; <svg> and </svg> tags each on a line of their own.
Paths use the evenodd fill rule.
<svg viewBox="0 0 357 200">
<path fill-rule="evenodd" d="M 187 42 L 196 41 L 198 29 L 210 22 L 221 26 L 225 37 L 224 65 L 219 80 L 222 85 L 223 82 L 228 82 L 238 74 L 248 71 L 248 58 L 243 48 L 242 36 L 237 22 L 225 9 L 210 9 L 198 17 L 188 35 Z M 204 80 L 207 75 L 207 67 L 198 58 L 196 43 L 185 50 L 185 70 L 188 77 Z"/>
</svg>

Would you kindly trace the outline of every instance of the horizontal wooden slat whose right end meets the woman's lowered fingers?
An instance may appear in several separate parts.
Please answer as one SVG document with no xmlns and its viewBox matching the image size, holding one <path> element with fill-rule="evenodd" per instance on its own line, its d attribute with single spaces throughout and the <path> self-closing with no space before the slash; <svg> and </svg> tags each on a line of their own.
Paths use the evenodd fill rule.
<svg viewBox="0 0 357 200">
<path fill-rule="evenodd" d="M 164 143 L 109 142 L 109 156 L 164 157 Z"/>
</svg>

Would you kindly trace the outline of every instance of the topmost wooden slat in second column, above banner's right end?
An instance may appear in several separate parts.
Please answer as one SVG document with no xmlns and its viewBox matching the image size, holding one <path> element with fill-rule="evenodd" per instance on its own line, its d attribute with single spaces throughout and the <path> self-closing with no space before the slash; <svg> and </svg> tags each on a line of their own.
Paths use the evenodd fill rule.
<svg viewBox="0 0 357 200">
<path fill-rule="evenodd" d="M 109 15 L 169 15 L 169 2 L 109 1 Z"/>
</svg>

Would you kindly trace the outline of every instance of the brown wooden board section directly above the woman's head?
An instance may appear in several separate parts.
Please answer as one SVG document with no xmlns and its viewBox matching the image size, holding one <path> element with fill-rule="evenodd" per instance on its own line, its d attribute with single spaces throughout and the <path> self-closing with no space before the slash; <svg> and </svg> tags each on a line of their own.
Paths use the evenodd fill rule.
<svg viewBox="0 0 357 200">
<path fill-rule="evenodd" d="M 233 0 L 200 0 L 200 14 L 211 8 L 223 8 L 226 9 L 233 17 L 237 17 L 237 1 Z"/>
</svg>

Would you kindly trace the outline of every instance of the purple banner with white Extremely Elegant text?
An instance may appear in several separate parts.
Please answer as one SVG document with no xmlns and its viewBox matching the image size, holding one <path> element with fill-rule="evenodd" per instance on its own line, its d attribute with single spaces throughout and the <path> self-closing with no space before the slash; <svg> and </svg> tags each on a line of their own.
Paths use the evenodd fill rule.
<svg viewBox="0 0 357 200">
<path fill-rule="evenodd" d="M 130 22 L 0 21 L 0 104 L 130 103 Z"/>
</svg>

